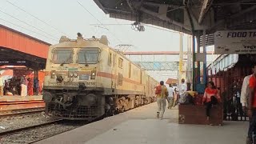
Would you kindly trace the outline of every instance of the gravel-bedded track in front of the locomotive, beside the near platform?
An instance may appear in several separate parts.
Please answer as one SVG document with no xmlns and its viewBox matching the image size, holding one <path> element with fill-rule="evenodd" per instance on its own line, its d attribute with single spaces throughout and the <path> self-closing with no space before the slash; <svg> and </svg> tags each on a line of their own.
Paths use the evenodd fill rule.
<svg viewBox="0 0 256 144">
<path fill-rule="evenodd" d="M 6 130 L 0 133 L 0 143 L 34 143 L 56 134 L 73 130 L 85 125 L 85 122 L 68 122 L 63 119 L 45 122 L 34 126 L 22 127 L 16 130 Z"/>
</svg>

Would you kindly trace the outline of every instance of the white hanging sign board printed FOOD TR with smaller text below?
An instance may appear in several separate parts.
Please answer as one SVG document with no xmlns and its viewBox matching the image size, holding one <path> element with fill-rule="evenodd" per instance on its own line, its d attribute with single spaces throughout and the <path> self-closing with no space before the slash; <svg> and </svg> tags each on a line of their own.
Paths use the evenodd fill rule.
<svg viewBox="0 0 256 144">
<path fill-rule="evenodd" d="M 217 31 L 214 54 L 256 54 L 256 30 Z"/>
</svg>

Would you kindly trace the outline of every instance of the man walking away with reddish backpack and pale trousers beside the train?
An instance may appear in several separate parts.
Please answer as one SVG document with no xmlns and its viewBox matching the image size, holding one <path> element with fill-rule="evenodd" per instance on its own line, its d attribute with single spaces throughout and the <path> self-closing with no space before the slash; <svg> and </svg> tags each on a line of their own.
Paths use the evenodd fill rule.
<svg viewBox="0 0 256 144">
<path fill-rule="evenodd" d="M 162 120 L 163 114 L 166 110 L 166 97 L 168 96 L 168 90 L 166 86 L 164 86 L 164 82 L 160 82 L 160 86 L 156 87 L 155 94 L 157 94 L 157 103 L 158 103 L 158 112 L 157 118 Z"/>
</svg>

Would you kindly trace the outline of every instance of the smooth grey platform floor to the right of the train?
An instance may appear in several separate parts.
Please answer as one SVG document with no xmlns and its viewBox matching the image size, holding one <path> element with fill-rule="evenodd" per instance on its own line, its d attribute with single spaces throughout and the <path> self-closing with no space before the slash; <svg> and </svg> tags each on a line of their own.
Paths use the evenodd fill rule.
<svg viewBox="0 0 256 144">
<path fill-rule="evenodd" d="M 86 126 L 47 138 L 37 144 L 241 144 L 248 122 L 224 122 L 223 126 L 178 124 L 178 109 L 166 109 L 156 117 L 156 102 L 104 118 Z"/>
</svg>

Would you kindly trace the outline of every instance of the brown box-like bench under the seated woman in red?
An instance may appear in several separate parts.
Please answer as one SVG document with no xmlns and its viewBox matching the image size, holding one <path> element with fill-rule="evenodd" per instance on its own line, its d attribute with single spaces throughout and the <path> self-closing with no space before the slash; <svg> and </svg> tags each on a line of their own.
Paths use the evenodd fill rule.
<svg viewBox="0 0 256 144">
<path fill-rule="evenodd" d="M 206 106 L 180 105 L 178 107 L 179 124 L 222 125 L 223 106 L 216 105 L 210 110 L 210 119 L 207 121 Z"/>
</svg>

